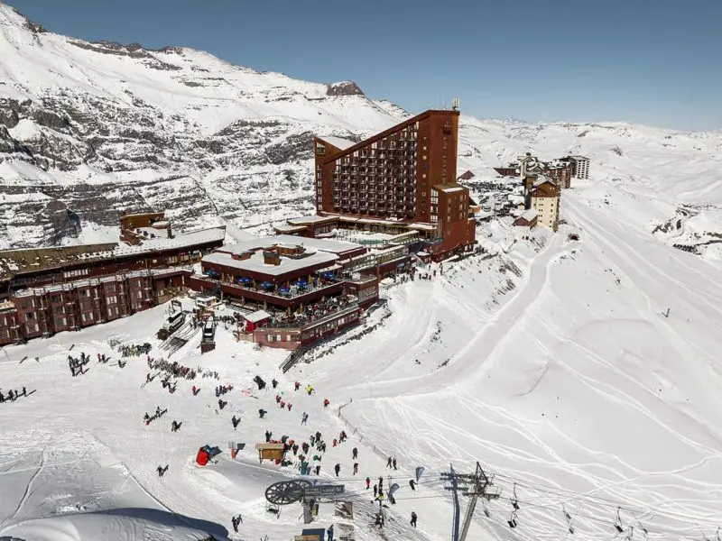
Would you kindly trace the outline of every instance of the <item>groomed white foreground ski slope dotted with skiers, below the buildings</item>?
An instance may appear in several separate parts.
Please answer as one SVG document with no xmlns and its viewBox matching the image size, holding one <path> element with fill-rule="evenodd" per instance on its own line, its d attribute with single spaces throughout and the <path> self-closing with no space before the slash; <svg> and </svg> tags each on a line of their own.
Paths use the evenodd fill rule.
<svg viewBox="0 0 722 541">
<path fill-rule="evenodd" d="M 643 529 L 649 539 L 714 536 L 722 516 L 722 276 L 708 260 L 625 219 L 637 205 L 626 192 L 599 206 L 598 191 L 590 181 L 565 192 L 568 225 L 559 234 L 540 230 L 508 255 L 447 262 L 421 270 L 436 270 L 431 280 L 384 285 L 386 308 L 366 324 L 377 324 L 372 333 L 339 337 L 286 374 L 277 370 L 284 353 L 236 343 L 222 326 L 212 353 L 199 356 L 191 340 L 172 360 L 217 370 L 220 383 L 236 386 L 220 411 L 217 381 L 192 382 L 201 387 L 196 397 L 192 383 L 180 381 L 170 395 L 157 380 L 143 386 L 143 359 L 131 358 L 122 371 L 91 362 L 86 375 L 70 377 L 67 355 L 112 354 L 110 337 L 147 340 L 158 355 L 153 330 L 162 307 L 5 348 L 5 392 L 22 385 L 35 392 L 0 405 L 5 441 L 15 442 L 0 451 L 0 536 L 55 539 L 74 528 L 80 539 L 100 530 L 133 538 L 144 528 L 167 538 L 291 539 L 301 531 L 300 506 L 282 509 L 280 518 L 265 512 L 265 487 L 293 476 L 257 463 L 253 445 L 266 429 L 297 441 L 316 430 L 324 435 L 320 477 L 335 481 L 333 464 L 341 464 L 356 539 L 381 538 L 366 475 L 391 476 L 385 482 L 401 487 L 385 535 L 448 538 L 451 502 L 440 472 L 450 463 L 467 472 L 477 461 L 495 474 L 502 498 L 477 507 L 469 538 L 613 539 L 630 526 L 633 538 L 644 538 Z M 572 230 L 579 242 L 567 239 Z M 266 390 L 255 390 L 256 374 Z M 275 403 L 273 377 L 292 411 Z M 317 392 L 293 390 L 296 380 Z M 143 426 L 143 413 L 156 406 L 169 408 L 167 416 Z M 268 410 L 266 418 L 258 408 Z M 303 411 L 308 426 L 301 426 Z M 242 418 L 237 431 L 232 415 Z M 173 419 L 182 423 L 175 434 Z M 333 447 L 342 429 L 350 440 Z M 228 441 L 247 444 L 236 460 Z M 224 452 L 199 469 L 192 459 L 206 443 Z M 389 456 L 398 470 L 385 468 Z M 166 463 L 169 472 L 159 478 L 155 468 Z M 419 465 L 426 472 L 411 491 Z M 520 509 L 512 530 L 514 483 Z M 625 531 L 617 536 L 620 507 Z M 416 530 L 408 524 L 412 510 Z M 230 517 L 238 513 L 244 523 L 236 535 Z M 322 505 L 319 526 L 331 523 L 337 535 L 350 526 Z"/>
</svg>

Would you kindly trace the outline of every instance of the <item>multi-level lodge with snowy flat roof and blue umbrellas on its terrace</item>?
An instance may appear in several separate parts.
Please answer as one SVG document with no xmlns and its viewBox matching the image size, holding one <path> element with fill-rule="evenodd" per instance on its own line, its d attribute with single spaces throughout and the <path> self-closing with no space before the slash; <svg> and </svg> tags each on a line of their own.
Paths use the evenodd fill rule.
<svg viewBox="0 0 722 541">
<path fill-rule="evenodd" d="M 369 248 L 279 234 L 205 255 L 189 285 L 264 315 L 249 326 L 253 342 L 292 350 L 356 325 L 378 300 L 379 278 L 409 270 L 411 260 L 398 241 Z"/>
</svg>

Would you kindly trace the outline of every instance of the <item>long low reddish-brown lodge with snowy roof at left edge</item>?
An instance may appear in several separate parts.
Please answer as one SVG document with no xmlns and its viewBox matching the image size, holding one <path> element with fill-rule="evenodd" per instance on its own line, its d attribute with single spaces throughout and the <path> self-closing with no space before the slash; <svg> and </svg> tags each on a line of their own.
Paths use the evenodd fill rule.
<svg viewBox="0 0 722 541">
<path fill-rule="evenodd" d="M 173 234 L 163 213 L 122 216 L 120 224 L 118 243 L 0 252 L 0 345 L 162 304 L 226 238 L 225 227 Z"/>
</svg>

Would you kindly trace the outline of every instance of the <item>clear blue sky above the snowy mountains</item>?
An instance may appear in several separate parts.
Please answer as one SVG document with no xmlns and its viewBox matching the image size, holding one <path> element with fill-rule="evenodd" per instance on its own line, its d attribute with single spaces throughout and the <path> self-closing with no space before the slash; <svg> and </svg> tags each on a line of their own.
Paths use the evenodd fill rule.
<svg viewBox="0 0 722 541">
<path fill-rule="evenodd" d="M 0 0 L 2 1 L 2 0 Z M 356 81 L 418 112 L 722 129 L 722 0 L 9 0 L 88 41 Z"/>
</svg>

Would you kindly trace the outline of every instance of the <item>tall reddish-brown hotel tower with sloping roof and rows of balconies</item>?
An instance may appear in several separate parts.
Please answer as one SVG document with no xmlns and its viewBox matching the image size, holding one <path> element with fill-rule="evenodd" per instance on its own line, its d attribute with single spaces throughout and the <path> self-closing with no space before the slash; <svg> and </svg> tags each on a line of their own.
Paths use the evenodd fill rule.
<svg viewBox="0 0 722 541">
<path fill-rule="evenodd" d="M 436 257 L 471 248 L 475 221 L 468 189 L 456 181 L 457 139 L 457 110 L 426 111 L 357 143 L 317 137 L 318 214 L 428 225 Z"/>
</svg>

